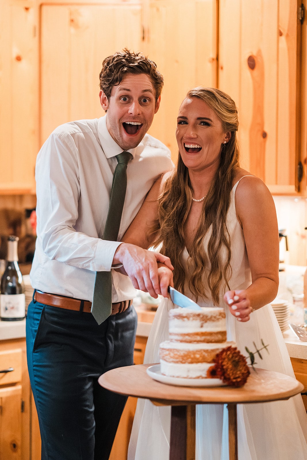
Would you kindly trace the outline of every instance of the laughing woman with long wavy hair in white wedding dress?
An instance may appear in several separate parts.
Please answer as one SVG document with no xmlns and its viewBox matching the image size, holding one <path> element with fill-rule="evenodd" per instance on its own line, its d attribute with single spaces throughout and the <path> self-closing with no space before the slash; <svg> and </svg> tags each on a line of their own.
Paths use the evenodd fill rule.
<svg viewBox="0 0 307 460">
<path fill-rule="evenodd" d="M 227 340 L 246 356 L 263 340 L 255 367 L 294 377 L 269 304 L 278 291 L 278 224 L 263 182 L 239 167 L 237 108 L 220 90 L 198 87 L 179 110 L 178 164 L 156 182 L 124 241 L 161 246 L 174 265 L 174 287 L 199 305 L 224 306 Z M 159 268 L 160 285 L 172 273 Z M 169 299 L 159 305 L 144 362 L 159 362 L 168 339 Z M 253 372 L 253 371 L 252 371 Z M 227 408 L 197 405 L 196 458 L 228 460 Z M 307 415 L 300 395 L 237 406 L 239 460 L 306 460 Z M 168 460 L 170 407 L 139 399 L 128 460 Z"/>
</svg>

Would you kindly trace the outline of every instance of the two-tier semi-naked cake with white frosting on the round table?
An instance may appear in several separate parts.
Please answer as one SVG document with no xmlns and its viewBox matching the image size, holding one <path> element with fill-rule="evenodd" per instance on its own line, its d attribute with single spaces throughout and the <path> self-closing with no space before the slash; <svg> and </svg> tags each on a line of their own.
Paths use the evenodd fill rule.
<svg viewBox="0 0 307 460">
<path fill-rule="evenodd" d="M 201 311 L 175 308 L 168 312 L 169 340 L 160 344 L 161 374 L 188 379 L 207 378 L 207 371 L 226 341 L 226 314 L 223 308 L 203 307 Z"/>
</svg>

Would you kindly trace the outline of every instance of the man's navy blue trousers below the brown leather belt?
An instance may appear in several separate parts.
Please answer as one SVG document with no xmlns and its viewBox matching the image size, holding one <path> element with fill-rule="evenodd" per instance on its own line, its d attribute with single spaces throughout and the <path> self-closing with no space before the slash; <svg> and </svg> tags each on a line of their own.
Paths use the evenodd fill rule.
<svg viewBox="0 0 307 460">
<path fill-rule="evenodd" d="M 133 306 L 98 326 L 91 313 L 30 303 L 27 359 L 41 460 L 109 458 L 127 398 L 97 380 L 133 364 L 136 325 Z"/>
</svg>

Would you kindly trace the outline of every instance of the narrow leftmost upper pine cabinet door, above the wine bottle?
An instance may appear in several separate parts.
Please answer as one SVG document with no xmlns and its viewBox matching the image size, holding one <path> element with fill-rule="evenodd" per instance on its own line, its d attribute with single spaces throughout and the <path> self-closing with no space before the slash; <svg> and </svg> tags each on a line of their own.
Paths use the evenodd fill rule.
<svg viewBox="0 0 307 460">
<path fill-rule="evenodd" d="M 38 147 L 35 8 L 0 3 L 0 193 L 29 193 Z"/>
</svg>

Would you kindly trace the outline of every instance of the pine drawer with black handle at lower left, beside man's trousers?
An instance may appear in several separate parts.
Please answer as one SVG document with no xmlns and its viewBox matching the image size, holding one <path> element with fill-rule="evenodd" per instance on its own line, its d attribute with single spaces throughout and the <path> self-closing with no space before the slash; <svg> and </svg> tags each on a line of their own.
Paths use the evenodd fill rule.
<svg viewBox="0 0 307 460">
<path fill-rule="evenodd" d="M 10 372 L 1 372 L 12 368 Z M 8 385 L 21 381 L 22 349 L 0 351 L 0 385 Z"/>
</svg>

